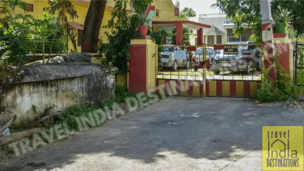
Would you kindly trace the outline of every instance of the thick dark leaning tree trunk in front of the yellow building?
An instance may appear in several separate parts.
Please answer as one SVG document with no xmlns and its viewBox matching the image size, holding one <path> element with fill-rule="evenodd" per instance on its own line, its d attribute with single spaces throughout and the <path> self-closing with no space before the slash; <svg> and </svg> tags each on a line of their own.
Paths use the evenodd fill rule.
<svg viewBox="0 0 304 171">
<path fill-rule="evenodd" d="M 81 52 L 96 53 L 99 30 L 107 1 L 91 1 L 82 33 Z"/>
</svg>

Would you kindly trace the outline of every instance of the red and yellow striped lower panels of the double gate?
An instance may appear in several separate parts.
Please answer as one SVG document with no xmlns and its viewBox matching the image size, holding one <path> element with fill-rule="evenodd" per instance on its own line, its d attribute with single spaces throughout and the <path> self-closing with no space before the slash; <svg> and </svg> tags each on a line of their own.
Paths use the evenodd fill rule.
<svg viewBox="0 0 304 171">
<path fill-rule="evenodd" d="M 261 81 L 156 79 L 156 92 L 168 96 L 253 97 Z"/>
</svg>

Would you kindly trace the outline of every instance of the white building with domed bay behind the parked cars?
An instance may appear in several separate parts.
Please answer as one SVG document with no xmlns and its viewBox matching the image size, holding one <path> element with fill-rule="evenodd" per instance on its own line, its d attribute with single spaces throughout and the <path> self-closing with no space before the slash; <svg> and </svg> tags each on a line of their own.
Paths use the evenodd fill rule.
<svg viewBox="0 0 304 171">
<path fill-rule="evenodd" d="M 198 20 L 199 23 L 208 24 L 210 29 L 203 30 L 204 44 L 226 44 L 228 42 L 248 41 L 252 35 L 252 29 L 247 28 L 245 33 L 239 37 L 235 37 L 233 33 L 234 24 L 230 19 L 226 19 L 226 14 L 200 14 L 199 18 L 191 18 L 191 21 Z M 190 44 L 197 45 L 196 31 L 189 29 Z"/>
</svg>

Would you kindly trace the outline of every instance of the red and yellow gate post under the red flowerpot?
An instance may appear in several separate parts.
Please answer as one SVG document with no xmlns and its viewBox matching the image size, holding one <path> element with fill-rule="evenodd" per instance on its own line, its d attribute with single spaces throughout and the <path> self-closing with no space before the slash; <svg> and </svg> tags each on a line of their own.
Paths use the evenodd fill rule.
<svg viewBox="0 0 304 171">
<path fill-rule="evenodd" d="M 155 88 L 155 43 L 150 39 L 135 39 L 130 45 L 128 92 L 146 92 Z"/>
</svg>

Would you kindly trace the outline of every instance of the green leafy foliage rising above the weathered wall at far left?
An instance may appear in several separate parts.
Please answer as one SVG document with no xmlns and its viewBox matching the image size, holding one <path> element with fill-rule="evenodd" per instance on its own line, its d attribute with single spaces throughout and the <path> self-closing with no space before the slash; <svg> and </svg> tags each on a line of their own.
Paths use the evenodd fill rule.
<svg viewBox="0 0 304 171">
<path fill-rule="evenodd" d="M 42 43 L 42 39 L 39 40 L 38 37 L 41 38 L 50 33 L 54 33 L 51 30 L 54 30 L 57 18 L 55 16 L 48 15 L 47 13 L 37 20 L 28 14 L 15 15 L 14 7 L 19 6 L 20 8 L 24 8 L 27 6 L 25 2 L 7 1 L 2 4 L 7 6 L 2 6 L 0 11 L 8 13 L 5 13 L 5 17 L 2 18 L 2 21 L 5 22 L 0 23 L 0 63 L 23 63 L 26 59 L 26 54 L 36 53 L 37 51 L 43 50 L 44 46 L 37 45 Z M 41 26 L 47 28 L 47 31 L 42 32 L 42 28 L 38 29 Z M 57 46 L 54 47 L 55 50 L 62 51 L 65 47 L 65 42 L 67 41 L 66 35 L 64 34 L 64 28 L 57 27 L 57 30 L 57 40 L 52 44 L 52 46 L 56 44 Z M 49 36 L 47 39 L 52 40 Z M 49 46 L 50 45 L 46 45 L 44 48 Z"/>
</svg>

